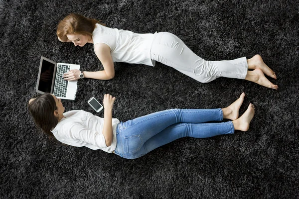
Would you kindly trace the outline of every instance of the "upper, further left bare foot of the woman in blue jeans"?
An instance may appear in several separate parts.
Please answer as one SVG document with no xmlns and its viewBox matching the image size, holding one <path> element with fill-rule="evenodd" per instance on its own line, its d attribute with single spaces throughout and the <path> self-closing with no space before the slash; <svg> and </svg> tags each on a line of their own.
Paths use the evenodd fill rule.
<svg viewBox="0 0 299 199">
<path fill-rule="evenodd" d="M 239 117 L 239 109 L 244 101 L 245 93 L 242 93 L 240 98 L 234 101 L 226 108 L 222 108 L 223 118 L 235 120 Z"/>
</svg>

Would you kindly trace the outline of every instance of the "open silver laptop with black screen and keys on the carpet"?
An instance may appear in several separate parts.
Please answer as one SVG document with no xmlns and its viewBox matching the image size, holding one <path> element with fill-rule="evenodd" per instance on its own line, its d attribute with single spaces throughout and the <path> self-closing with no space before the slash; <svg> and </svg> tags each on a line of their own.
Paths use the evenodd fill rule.
<svg viewBox="0 0 299 199">
<path fill-rule="evenodd" d="M 60 99 L 75 100 L 78 81 L 66 81 L 62 77 L 71 69 L 79 70 L 80 66 L 56 63 L 41 57 L 35 91 L 39 94 L 50 93 Z"/>
</svg>

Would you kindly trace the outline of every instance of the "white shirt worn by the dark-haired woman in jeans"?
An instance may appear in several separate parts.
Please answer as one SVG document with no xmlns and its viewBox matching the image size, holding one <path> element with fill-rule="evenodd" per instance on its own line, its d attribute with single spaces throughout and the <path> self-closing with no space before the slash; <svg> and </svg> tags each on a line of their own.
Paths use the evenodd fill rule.
<svg viewBox="0 0 299 199">
<path fill-rule="evenodd" d="M 56 127 L 51 131 L 55 138 L 68 145 L 90 149 L 102 149 L 112 153 L 116 148 L 116 126 L 120 121 L 112 119 L 113 141 L 111 146 L 106 146 L 105 137 L 102 134 L 104 118 L 93 115 L 84 110 L 71 110 L 63 113 Z"/>
</svg>

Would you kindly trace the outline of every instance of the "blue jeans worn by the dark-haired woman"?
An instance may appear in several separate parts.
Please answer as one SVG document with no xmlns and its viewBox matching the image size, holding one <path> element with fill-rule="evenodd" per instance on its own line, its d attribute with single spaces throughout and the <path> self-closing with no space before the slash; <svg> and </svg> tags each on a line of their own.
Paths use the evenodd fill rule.
<svg viewBox="0 0 299 199">
<path fill-rule="evenodd" d="M 222 119 L 221 108 L 169 109 L 121 122 L 116 128 L 114 153 L 135 159 L 181 137 L 206 138 L 234 133 L 231 121 L 204 123 Z"/>
</svg>

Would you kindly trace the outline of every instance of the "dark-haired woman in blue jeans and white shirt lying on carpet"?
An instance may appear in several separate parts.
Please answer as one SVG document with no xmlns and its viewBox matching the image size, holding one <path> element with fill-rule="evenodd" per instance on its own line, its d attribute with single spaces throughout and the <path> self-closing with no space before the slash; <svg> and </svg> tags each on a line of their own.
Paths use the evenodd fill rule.
<svg viewBox="0 0 299 199">
<path fill-rule="evenodd" d="M 61 100 L 50 94 L 29 100 L 29 111 L 37 126 L 62 143 L 102 149 L 123 158 L 139 158 L 155 148 L 181 137 L 207 138 L 247 131 L 254 116 L 249 104 L 239 117 L 245 94 L 226 108 L 169 109 L 126 122 L 112 118 L 115 98 L 104 96 L 104 118 L 83 110 L 64 112 Z M 232 121 L 206 123 L 209 121 Z"/>
</svg>

